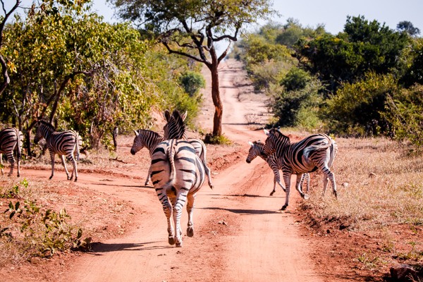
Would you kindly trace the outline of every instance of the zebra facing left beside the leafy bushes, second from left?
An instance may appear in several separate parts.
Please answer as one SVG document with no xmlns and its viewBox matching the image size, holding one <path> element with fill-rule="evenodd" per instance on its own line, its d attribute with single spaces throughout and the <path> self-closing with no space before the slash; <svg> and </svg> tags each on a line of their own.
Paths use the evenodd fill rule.
<svg viewBox="0 0 423 282">
<path fill-rule="evenodd" d="M 53 125 L 45 121 L 37 122 L 37 132 L 35 133 L 34 142 L 38 143 L 39 140 L 45 138 L 47 142 L 47 148 L 49 148 L 50 158 L 51 158 L 51 176 L 49 179 L 54 176 L 54 157 L 56 154 L 59 154 L 63 167 L 66 171 L 66 176 L 68 180 L 72 180 L 73 173 L 75 172 L 75 181 L 78 180 L 78 168 L 76 166 L 76 159 L 79 159 L 79 148 L 82 145 L 82 139 L 80 135 L 75 130 L 66 130 L 63 132 L 57 132 L 54 130 Z M 72 161 L 73 171 L 71 177 L 69 177 L 68 168 L 66 168 L 66 159 Z"/>
</svg>

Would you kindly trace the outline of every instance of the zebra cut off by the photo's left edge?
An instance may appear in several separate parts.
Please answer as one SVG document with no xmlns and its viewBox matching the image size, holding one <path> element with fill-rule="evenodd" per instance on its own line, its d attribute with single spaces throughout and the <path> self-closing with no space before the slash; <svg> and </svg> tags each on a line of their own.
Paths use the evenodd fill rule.
<svg viewBox="0 0 423 282">
<path fill-rule="evenodd" d="M 13 168 L 15 167 L 15 158 L 13 157 L 13 150 L 16 149 L 16 159 L 18 163 L 18 173 L 20 176 L 20 157 L 21 149 L 23 147 L 23 134 L 18 128 L 4 128 L 0 131 L 0 164 L 1 174 L 3 171 L 3 154 L 6 154 L 6 159 L 11 163 L 11 171 L 8 176 L 13 174 Z"/>
</svg>

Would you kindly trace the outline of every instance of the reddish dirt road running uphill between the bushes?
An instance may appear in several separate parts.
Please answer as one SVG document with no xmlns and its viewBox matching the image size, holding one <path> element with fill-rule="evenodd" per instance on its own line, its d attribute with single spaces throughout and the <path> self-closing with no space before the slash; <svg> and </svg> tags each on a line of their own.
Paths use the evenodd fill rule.
<svg viewBox="0 0 423 282">
<path fill-rule="evenodd" d="M 293 215 L 298 193 L 291 193 L 286 212 L 278 211 L 285 194 L 278 188 L 269 197 L 273 173 L 262 159 L 245 162 L 247 141 L 265 139 L 262 130 L 247 125 L 246 117 L 264 111 L 264 105 L 240 102 L 239 88 L 233 85 L 239 67 L 223 63 L 220 80 L 223 133 L 242 149 L 224 170 L 212 173 L 214 190 L 206 182 L 197 195 L 194 237 L 186 236 L 184 209 L 183 247 L 168 245 L 166 217 L 154 189 L 129 177 L 144 179 L 147 171 L 108 176 L 109 181 L 104 174 L 80 173 L 78 186 L 130 201 L 141 212 L 133 216 L 132 228 L 124 236 L 95 243 L 92 252 L 69 262 L 55 281 L 325 281 L 310 257 L 313 242 L 301 235 Z M 208 95 L 207 99 L 210 103 Z M 200 125 L 208 132 L 213 114 L 209 106 L 200 116 Z M 49 175 L 49 171 L 25 173 Z M 56 177 L 63 178 L 63 171 Z"/>
</svg>

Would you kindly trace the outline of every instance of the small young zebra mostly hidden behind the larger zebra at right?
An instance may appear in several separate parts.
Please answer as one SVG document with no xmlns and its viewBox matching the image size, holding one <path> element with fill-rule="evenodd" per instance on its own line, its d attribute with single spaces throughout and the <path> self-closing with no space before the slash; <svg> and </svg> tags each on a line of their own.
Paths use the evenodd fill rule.
<svg viewBox="0 0 423 282">
<path fill-rule="evenodd" d="M 285 187 L 281 183 L 281 176 L 279 175 L 279 169 L 282 168 L 281 161 L 279 161 L 278 158 L 274 154 L 271 154 L 270 156 L 267 156 L 266 153 L 264 153 L 264 143 L 260 141 L 254 141 L 254 142 L 248 142 L 250 144 L 250 150 L 248 151 L 247 156 L 247 163 L 250 164 L 250 162 L 255 159 L 256 157 L 261 157 L 266 161 L 267 164 L 269 164 L 271 170 L 274 172 L 274 189 L 270 192 L 270 195 L 274 195 L 274 192 L 276 192 L 276 183 L 278 183 L 279 186 L 281 186 L 282 190 L 286 192 Z M 309 192 L 310 187 L 310 176 L 309 173 L 303 173 L 300 180 L 300 186 L 302 187 L 302 184 L 304 181 L 307 180 L 307 193 Z"/>
</svg>

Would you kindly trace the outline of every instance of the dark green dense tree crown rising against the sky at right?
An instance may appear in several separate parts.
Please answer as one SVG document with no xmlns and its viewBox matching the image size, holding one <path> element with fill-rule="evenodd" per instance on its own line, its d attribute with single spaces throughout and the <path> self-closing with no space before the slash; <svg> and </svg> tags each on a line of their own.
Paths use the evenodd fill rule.
<svg viewBox="0 0 423 282">
<path fill-rule="evenodd" d="M 393 71 L 408 42 L 403 32 L 390 30 L 376 20 L 349 16 L 344 31 L 337 36 L 302 39 L 295 50 L 302 66 L 319 75 L 329 92 L 336 92 L 342 83 L 360 80 L 369 71 Z"/>
</svg>

